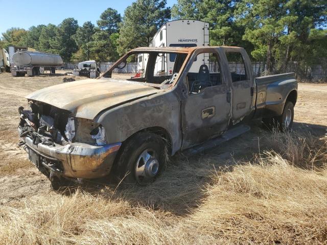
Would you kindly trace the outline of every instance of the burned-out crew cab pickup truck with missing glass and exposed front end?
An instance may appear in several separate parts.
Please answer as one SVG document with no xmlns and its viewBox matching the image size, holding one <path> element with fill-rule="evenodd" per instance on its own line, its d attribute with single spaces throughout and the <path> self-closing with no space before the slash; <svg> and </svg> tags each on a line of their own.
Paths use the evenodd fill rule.
<svg viewBox="0 0 327 245">
<path fill-rule="evenodd" d="M 112 72 L 141 55 L 141 77 Z M 197 152 L 236 137 L 249 130 L 244 122 L 250 119 L 292 127 L 294 74 L 253 73 L 241 47 L 136 48 L 98 79 L 28 95 L 31 109 L 19 108 L 19 144 L 54 188 L 109 173 L 147 183 L 167 154 Z"/>
</svg>

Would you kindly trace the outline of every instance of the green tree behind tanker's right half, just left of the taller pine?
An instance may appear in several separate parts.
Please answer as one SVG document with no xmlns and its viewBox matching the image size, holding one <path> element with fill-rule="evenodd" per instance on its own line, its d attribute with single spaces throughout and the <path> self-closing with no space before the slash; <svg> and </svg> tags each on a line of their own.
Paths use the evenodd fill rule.
<svg viewBox="0 0 327 245">
<path fill-rule="evenodd" d="M 54 24 L 48 24 L 44 27 L 39 37 L 39 51 L 51 54 L 59 53 L 55 48 L 57 45 L 56 35 L 57 27 Z"/>
</svg>

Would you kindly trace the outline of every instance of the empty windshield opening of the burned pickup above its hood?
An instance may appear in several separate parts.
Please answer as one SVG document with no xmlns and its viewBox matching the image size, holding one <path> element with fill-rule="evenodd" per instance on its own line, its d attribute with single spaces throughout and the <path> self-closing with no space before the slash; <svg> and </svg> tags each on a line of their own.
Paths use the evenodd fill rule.
<svg viewBox="0 0 327 245">
<path fill-rule="evenodd" d="M 175 56 L 172 61 L 171 55 Z M 187 54 L 174 52 L 136 52 L 124 56 L 103 77 L 150 84 L 170 84 L 179 73 Z"/>
</svg>

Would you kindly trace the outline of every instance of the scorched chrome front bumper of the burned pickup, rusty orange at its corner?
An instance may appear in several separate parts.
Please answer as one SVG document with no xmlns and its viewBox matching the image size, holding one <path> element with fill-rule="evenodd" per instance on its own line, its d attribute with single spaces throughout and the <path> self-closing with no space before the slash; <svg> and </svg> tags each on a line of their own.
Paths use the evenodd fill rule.
<svg viewBox="0 0 327 245">
<path fill-rule="evenodd" d="M 18 128 L 18 134 L 22 131 Z M 64 177 L 94 179 L 109 174 L 121 143 L 95 146 L 85 143 L 70 143 L 67 145 L 34 144 L 30 137 L 20 137 L 25 143 L 27 152 L 33 151 L 39 156 L 41 164 L 56 165 L 58 173 Z"/>
</svg>

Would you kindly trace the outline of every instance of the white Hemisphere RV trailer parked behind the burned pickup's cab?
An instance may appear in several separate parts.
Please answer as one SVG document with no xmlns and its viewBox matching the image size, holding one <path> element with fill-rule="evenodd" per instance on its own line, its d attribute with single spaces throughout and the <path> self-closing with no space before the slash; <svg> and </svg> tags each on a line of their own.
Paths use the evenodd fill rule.
<svg viewBox="0 0 327 245">
<path fill-rule="evenodd" d="M 180 19 L 168 21 L 153 36 L 150 46 L 153 47 L 195 47 L 209 45 L 209 23 L 200 20 Z M 198 72 L 202 64 L 208 65 L 209 57 L 197 58 L 191 67 L 191 72 Z M 199 56 L 198 56 L 199 57 Z M 171 75 L 174 69 L 176 55 L 162 55 L 158 57 L 155 65 L 155 75 Z M 139 55 L 137 69 L 145 73 L 148 55 Z"/>
</svg>

